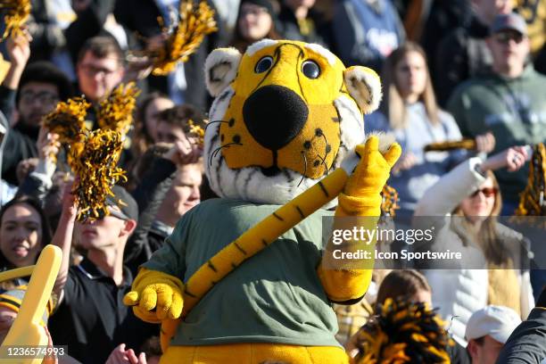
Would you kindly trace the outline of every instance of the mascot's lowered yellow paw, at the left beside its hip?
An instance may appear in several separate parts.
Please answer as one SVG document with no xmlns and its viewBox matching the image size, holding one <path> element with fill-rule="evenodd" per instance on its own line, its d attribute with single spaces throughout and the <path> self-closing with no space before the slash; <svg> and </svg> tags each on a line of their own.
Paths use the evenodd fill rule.
<svg viewBox="0 0 546 364">
<path fill-rule="evenodd" d="M 183 291 L 184 284 L 177 277 L 142 268 L 123 303 L 133 306 L 137 318 L 159 323 L 163 319 L 180 317 Z"/>
</svg>

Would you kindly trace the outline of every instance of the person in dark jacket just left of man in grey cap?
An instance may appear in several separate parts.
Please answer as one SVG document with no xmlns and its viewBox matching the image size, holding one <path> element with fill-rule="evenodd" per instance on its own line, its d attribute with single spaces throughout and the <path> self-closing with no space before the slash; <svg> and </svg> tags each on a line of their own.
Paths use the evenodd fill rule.
<svg viewBox="0 0 546 364">
<path fill-rule="evenodd" d="M 490 71 L 492 55 L 485 39 L 489 37 L 495 16 L 511 12 L 513 5 L 510 0 L 472 0 L 470 3 L 474 10 L 470 21 L 452 29 L 436 50 L 434 88 L 442 106 L 461 82 Z"/>
</svg>

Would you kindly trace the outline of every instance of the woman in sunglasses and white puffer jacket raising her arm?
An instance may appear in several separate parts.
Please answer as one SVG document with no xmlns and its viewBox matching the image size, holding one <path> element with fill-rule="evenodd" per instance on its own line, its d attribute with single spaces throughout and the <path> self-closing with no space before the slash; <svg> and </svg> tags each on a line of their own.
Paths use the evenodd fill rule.
<svg viewBox="0 0 546 364">
<path fill-rule="evenodd" d="M 424 273 L 434 306 L 451 322 L 451 334 L 463 346 L 472 312 L 495 304 L 525 319 L 534 307 L 529 271 L 524 268 L 527 241 L 498 221 L 502 199 L 493 174 L 520 170 L 530 156 L 527 150 L 515 146 L 485 161 L 479 157 L 463 161 L 426 191 L 415 211 L 414 226 L 434 224 L 431 250 L 462 254 L 461 261 L 446 261 Z"/>
</svg>

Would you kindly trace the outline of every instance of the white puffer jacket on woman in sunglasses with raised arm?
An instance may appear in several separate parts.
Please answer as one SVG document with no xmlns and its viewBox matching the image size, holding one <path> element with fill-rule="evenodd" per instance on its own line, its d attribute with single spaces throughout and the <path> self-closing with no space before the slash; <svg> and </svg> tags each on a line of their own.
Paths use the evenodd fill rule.
<svg viewBox="0 0 546 364">
<path fill-rule="evenodd" d="M 444 216 L 440 230 L 436 230 L 434 251 L 462 252 L 464 267 L 486 267 L 483 253 L 473 246 L 465 246 L 460 237 L 451 229 L 451 211 L 469 194 L 476 191 L 485 179 L 476 171 L 476 164 L 480 158 L 470 158 L 460 163 L 456 168 L 445 174 L 434 186 L 431 186 L 423 198 L 418 202 L 414 216 L 438 217 Z M 415 220 L 418 220 L 416 218 Z M 503 239 L 508 239 L 511 246 L 524 244 L 523 236 L 509 227 L 498 224 L 498 233 Z M 523 249 L 525 252 L 525 249 Z M 527 259 L 525 253 L 522 255 Z M 469 263 L 467 260 L 473 260 Z M 465 328 L 468 318 L 476 310 L 488 304 L 487 291 L 489 278 L 487 269 L 428 269 L 423 271 L 432 288 L 434 307 L 439 308 L 439 314 L 451 326 L 453 338 L 461 345 L 466 346 Z M 527 318 L 534 308 L 533 290 L 528 270 L 517 270 L 521 287 L 522 319 Z"/>
</svg>

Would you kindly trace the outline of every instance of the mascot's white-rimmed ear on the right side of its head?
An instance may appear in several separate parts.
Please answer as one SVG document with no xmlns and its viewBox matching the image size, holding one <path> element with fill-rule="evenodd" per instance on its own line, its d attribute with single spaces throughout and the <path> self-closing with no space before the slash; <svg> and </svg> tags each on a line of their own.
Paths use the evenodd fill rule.
<svg viewBox="0 0 546 364">
<path fill-rule="evenodd" d="M 381 102 L 381 80 L 374 70 L 353 66 L 343 72 L 345 86 L 359 105 L 360 111 L 374 112 Z"/>
</svg>

